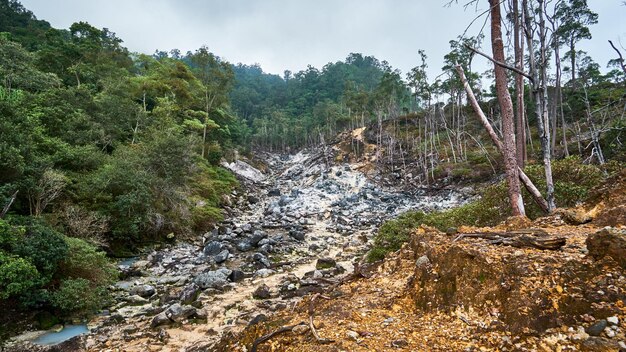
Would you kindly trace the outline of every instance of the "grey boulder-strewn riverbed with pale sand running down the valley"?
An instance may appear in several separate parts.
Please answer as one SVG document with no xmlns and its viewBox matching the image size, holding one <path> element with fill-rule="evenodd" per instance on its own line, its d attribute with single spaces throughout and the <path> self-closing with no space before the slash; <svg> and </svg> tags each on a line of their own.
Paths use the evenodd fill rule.
<svg viewBox="0 0 626 352">
<path fill-rule="evenodd" d="M 266 173 L 244 162 L 225 165 L 247 186 L 213 231 L 121 266 L 115 304 L 79 338 L 85 349 L 210 350 L 224 334 L 349 274 L 384 220 L 467 199 L 463 190 L 382 189 L 360 165 L 332 165 L 320 153 L 267 155 L 265 162 Z"/>
</svg>

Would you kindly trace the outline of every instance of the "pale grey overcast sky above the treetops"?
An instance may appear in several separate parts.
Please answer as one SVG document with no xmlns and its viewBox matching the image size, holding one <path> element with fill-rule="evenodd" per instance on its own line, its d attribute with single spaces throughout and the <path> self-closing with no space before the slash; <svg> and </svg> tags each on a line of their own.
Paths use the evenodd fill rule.
<svg viewBox="0 0 626 352">
<path fill-rule="evenodd" d="M 258 63 L 282 75 L 308 64 L 321 68 L 350 52 L 374 55 L 406 73 L 418 64 L 417 50 L 425 49 L 431 78 L 439 74 L 448 41 L 476 16 L 475 8 L 445 7 L 447 1 L 21 0 L 56 28 L 78 21 L 106 27 L 131 51 L 178 48 L 185 53 L 207 45 L 232 63 Z M 479 3 L 482 12 L 487 1 Z M 593 39 L 580 48 L 605 68 L 615 56 L 607 40 L 626 47 L 626 6 L 623 0 L 588 3 L 599 23 L 592 27 Z M 476 21 L 468 35 L 477 34 L 483 22 Z M 484 59 L 477 60 L 478 67 L 487 67 Z"/>
</svg>

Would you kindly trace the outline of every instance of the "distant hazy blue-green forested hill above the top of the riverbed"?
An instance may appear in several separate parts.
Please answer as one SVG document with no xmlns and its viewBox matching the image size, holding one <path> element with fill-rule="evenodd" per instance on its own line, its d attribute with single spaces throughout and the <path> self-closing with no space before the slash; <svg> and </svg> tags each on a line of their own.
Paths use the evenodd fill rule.
<svg viewBox="0 0 626 352">
<path fill-rule="evenodd" d="M 233 110 L 251 127 L 255 145 L 284 150 L 315 145 L 368 119 L 374 107 L 390 100 L 409 110 L 411 95 L 397 70 L 372 56 L 350 54 L 321 70 L 283 77 L 264 73 L 258 65 L 233 67 Z"/>
</svg>

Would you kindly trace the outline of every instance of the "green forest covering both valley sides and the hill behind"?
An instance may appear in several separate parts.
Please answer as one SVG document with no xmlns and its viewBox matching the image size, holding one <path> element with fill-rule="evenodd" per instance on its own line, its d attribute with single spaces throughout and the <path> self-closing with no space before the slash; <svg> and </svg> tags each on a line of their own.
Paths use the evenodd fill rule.
<svg viewBox="0 0 626 352">
<path fill-rule="evenodd" d="M 405 186 L 502 174 L 515 184 L 492 195 L 500 205 L 512 197 L 506 208 L 478 214 L 482 203 L 463 216 L 500 220 L 508 205 L 537 216 L 580 202 L 626 162 L 626 50 L 607 43 L 615 59 L 596 62 L 578 48 L 598 21 L 585 0 L 504 3 L 500 57 L 485 34 L 447 38 L 445 65 L 429 77 L 425 50 L 406 74 L 347 53 L 282 76 L 209 46 L 136 53 L 107 28 L 56 29 L 19 1 L 0 0 L 0 307 L 88 316 L 110 299 L 118 275 L 110 258 L 224 220 L 241 185 L 222 161 L 296 153 L 362 127 L 376 167 Z M 473 71 L 476 60 L 495 62 L 495 73 Z M 518 168 L 545 204 L 520 190 Z M 523 192 L 521 209 L 511 192 Z M 383 236 L 404 231 L 396 225 Z"/>
</svg>

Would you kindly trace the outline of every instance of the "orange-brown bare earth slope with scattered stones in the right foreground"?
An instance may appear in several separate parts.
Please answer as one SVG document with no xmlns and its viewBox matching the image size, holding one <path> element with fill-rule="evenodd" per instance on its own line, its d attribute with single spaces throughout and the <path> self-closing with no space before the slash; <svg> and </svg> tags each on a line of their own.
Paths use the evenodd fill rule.
<svg viewBox="0 0 626 352">
<path fill-rule="evenodd" d="M 422 226 L 374 268 L 223 339 L 218 350 L 626 351 L 624 176 L 580 208 L 532 223 L 513 218 L 457 234 Z M 565 245 L 493 239 L 527 232 Z M 485 234 L 491 239 L 474 236 Z"/>
</svg>

